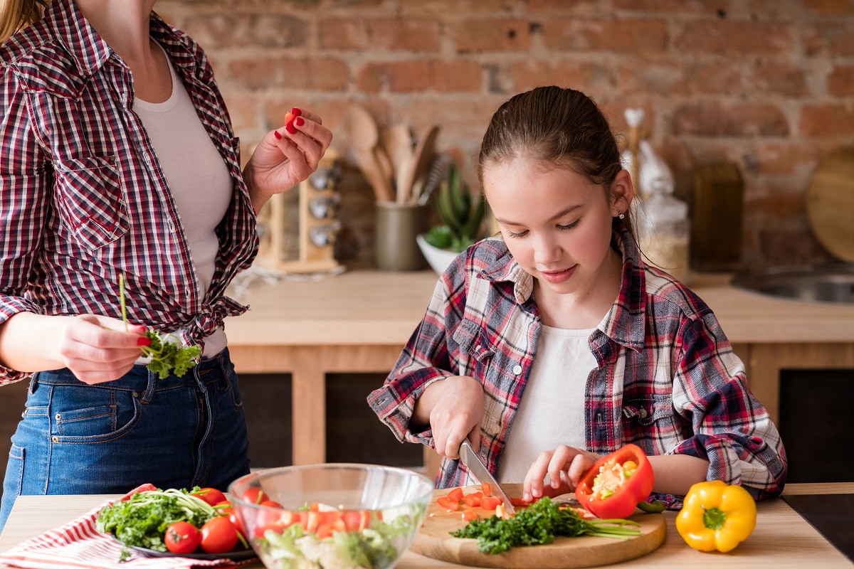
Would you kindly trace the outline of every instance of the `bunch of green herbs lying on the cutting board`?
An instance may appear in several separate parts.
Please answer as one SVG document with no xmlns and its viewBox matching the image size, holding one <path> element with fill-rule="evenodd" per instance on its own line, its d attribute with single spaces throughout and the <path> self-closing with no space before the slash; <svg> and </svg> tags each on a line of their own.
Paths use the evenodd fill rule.
<svg viewBox="0 0 854 569">
<path fill-rule="evenodd" d="M 560 508 L 558 502 L 544 497 L 509 520 L 498 516 L 471 520 L 451 535 L 477 539 L 481 553 L 500 554 L 514 547 L 552 543 L 558 536 L 629 539 L 640 535 L 639 530 L 626 525 L 639 524 L 634 520 L 582 520 L 573 509 Z"/>
</svg>

